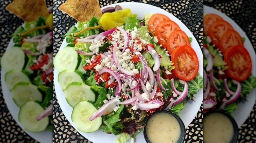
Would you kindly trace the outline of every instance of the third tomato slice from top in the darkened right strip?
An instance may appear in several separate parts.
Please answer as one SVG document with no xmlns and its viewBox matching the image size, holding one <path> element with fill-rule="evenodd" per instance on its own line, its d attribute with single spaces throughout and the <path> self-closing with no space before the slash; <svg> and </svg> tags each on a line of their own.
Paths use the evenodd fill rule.
<svg viewBox="0 0 256 143">
<path fill-rule="evenodd" d="M 225 54 L 228 48 L 237 46 L 237 45 L 244 46 L 242 37 L 235 30 L 227 30 L 221 37 L 219 48 L 222 54 Z"/>
</svg>

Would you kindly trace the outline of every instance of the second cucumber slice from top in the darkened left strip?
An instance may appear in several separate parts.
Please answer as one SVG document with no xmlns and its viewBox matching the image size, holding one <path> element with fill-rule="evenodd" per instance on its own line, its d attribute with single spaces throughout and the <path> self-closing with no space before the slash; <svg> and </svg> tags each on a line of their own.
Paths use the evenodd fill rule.
<svg viewBox="0 0 256 143">
<path fill-rule="evenodd" d="M 5 74 L 5 83 L 9 90 L 19 82 L 30 83 L 29 73 L 27 71 L 11 70 Z"/>
</svg>

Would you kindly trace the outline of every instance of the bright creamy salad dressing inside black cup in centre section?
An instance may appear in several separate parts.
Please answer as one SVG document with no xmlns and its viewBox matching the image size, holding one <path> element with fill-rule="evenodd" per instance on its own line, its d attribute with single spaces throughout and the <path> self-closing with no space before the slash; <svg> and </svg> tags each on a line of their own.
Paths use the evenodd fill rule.
<svg viewBox="0 0 256 143">
<path fill-rule="evenodd" d="M 176 143 L 181 134 L 181 127 L 171 114 L 158 113 L 148 120 L 146 133 L 151 143 Z"/>
</svg>

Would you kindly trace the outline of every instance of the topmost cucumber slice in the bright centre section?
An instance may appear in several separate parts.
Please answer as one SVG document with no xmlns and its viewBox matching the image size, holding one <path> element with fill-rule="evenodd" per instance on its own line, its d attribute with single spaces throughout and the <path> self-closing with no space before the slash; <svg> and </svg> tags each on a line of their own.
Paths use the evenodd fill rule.
<svg viewBox="0 0 256 143">
<path fill-rule="evenodd" d="M 72 47 L 65 47 L 56 54 L 53 65 L 59 72 L 75 70 L 79 65 L 78 54 Z"/>
</svg>

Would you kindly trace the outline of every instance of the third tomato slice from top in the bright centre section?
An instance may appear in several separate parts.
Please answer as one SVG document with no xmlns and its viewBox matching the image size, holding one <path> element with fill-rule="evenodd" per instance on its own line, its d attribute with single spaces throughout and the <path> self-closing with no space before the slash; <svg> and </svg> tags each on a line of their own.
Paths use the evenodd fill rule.
<svg viewBox="0 0 256 143">
<path fill-rule="evenodd" d="M 188 45 L 190 46 L 190 41 L 188 36 L 182 30 L 174 30 L 167 39 L 167 50 L 171 55 L 175 48 Z"/>
</svg>

